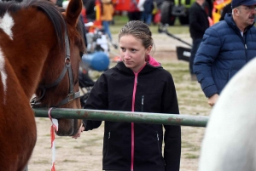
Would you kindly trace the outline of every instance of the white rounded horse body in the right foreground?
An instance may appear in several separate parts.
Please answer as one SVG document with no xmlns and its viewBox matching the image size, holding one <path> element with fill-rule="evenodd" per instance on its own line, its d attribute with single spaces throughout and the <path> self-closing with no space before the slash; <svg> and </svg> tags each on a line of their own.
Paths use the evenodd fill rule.
<svg viewBox="0 0 256 171">
<path fill-rule="evenodd" d="M 214 105 L 199 171 L 256 170 L 256 58 L 230 80 Z"/>
</svg>

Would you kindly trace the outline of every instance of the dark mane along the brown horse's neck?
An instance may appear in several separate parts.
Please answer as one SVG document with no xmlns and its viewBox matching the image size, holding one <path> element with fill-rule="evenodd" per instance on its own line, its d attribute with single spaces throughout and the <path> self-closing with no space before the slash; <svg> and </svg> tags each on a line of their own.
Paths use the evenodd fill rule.
<svg viewBox="0 0 256 171">
<path fill-rule="evenodd" d="M 57 9 L 53 3 L 44 0 L 24 0 L 21 3 L 15 1 L 8 1 L 0 3 L 0 17 L 3 17 L 7 11 L 9 13 L 16 13 L 20 9 L 29 9 L 29 8 L 37 8 L 38 10 L 42 10 L 47 16 L 51 23 L 55 28 L 56 37 L 58 37 L 58 43 L 60 45 L 63 43 L 62 32 L 65 30 L 65 20 L 61 15 L 61 10 Z M 61 46 L 62 47 L 62 46 Z M 63 47 L 62 47 L 63 48 Z"/>
</svg>

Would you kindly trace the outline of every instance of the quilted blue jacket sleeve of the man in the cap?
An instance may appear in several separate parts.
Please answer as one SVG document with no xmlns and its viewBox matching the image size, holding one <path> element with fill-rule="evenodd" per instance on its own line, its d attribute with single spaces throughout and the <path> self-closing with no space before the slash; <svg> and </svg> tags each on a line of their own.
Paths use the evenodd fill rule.
<svg viewBox="0 0 256 171">
<path fill-rule="evenodd" d="M 208 28 L 195 54 L 193 66 L 197 80 L 201 83 L 201 89 L 207 97 L 218 93 L 218 88 L 212 77 L 212 63 L 218 57 L 220 48 L 221 41 L 217 31 L 212 27 Z"/>
</svg>

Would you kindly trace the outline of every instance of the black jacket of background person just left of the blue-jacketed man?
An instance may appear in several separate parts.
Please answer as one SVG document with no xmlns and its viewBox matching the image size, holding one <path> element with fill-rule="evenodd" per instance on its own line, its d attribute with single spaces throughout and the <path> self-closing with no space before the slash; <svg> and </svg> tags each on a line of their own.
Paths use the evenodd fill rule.
<svg viewBox="0 0 256 171">
<path fill-rule="evenodd" d="M 209 27 L 209 20 L 206 10 L 198 3 L 193 3 L 189 9 L 189 31 L 193 39 L 202 39 L 205 31 Z"/>
</svg>

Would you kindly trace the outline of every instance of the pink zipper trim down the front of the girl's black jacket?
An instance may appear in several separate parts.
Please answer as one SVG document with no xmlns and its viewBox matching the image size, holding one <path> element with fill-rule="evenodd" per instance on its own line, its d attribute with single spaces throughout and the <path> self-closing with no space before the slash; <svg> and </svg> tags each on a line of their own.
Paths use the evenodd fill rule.
<svg viewBox="0 0 256 171">
<path fill-rule="evenodd" d="M 146 66 L 146 64 L 144 65 Z M 137 75 L 140 71 L 143 70 L 144 66 L 136 72 L 134 72 L 134 83 L 133 83 L 133 94 L 132 94 L 132 105 L 131 105 L 131 111 L 134 111 L 134 105 L 135 105 L 135 94 L 137 90 Z M 134 123 L 131 123 L 131 171 L 133 171 L 134 166 Z"/>
</svg>

